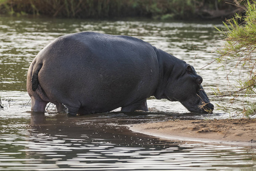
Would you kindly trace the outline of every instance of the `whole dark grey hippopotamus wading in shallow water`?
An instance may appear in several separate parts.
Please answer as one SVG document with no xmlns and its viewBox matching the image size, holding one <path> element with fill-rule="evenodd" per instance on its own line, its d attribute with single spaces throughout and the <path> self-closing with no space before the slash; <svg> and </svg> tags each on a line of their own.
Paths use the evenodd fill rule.
<svg viewBox="0 0 256 171">
<path fill-rule="evenodd" d="M 148 111 L 147 98 L 179 101 L 211 113 L 203 79 L 185 61 L 132 36 L 78 32 L 60 36 L 35 56 L 27 72 L 31 111 L 46 104 L 70 115 Z"/>
</svg>

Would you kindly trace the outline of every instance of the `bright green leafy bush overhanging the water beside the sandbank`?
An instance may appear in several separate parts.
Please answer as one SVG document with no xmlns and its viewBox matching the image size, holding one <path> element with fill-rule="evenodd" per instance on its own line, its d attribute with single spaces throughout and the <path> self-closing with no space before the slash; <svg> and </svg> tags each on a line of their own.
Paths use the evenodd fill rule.
<svg viewBox="0 0 256 171">
<path fill-rule="evenodd" d="M 233 72 L 236 75 L 242 75 L 237 79 L 237 89 L 230 93 L 223 94 L 217 90 L 218 96 L 233 96 L 230 100 L 232 104 L 234 99 L 241 98 L 246 102 L 243 113 L 245 116 L 256 114 L 256 102 L 246 101 L 246 97 L 255 98 L 256 90 L 256 1 L 249 2 L 246 5 L 246 14 L 241 16 L 236 14 L 233 18 L 224 22 L 225 28 L 220 30 L 225 36 L 225 44 L 218 50 L 221 55 L 217 62 L 228 73 L 229 78 Z M 242 74 L 243 70 L 248 71 Z M 247 107 L 246 107 L 247 106 Z"/>
</svg>

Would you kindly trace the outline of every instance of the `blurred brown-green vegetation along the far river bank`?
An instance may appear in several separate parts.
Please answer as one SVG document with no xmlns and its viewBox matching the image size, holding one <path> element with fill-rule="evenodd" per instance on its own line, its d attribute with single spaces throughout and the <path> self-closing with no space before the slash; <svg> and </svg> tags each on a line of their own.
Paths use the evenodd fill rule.
<svg viewBox="0 0 256 171">
<path fill-rule="evenodd" d="M 0 0 L 0 14 L 165 20 L 231 17 L 242 6 L 241 0 Z"/>
</svg>

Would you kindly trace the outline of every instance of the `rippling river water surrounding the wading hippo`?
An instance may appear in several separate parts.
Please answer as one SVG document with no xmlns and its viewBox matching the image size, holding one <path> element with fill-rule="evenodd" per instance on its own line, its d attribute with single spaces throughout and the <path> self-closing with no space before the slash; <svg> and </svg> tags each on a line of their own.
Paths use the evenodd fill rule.
<svg viewBox="0 0 256 171">
<path fill-rule="evenodd" d="M 69 117 L 56 113 L 53 105 L 45 115 L 30 112 L 26 92 L 29 64 L 58 36 L 79 31 L 141 38 L 193 65 L 211 102 L 225 104 L 225 99 L 213 96 L 211 88 L 228 91 L 232 84 L 227 86 L 226 72 L 217 71 L 217 64 L 206 66 L 218 56 L 214 51 L 222 42 L 213 25 L 220 23 L 1 16 L 0 96 L 4 110 L 0 110 L 0 170 L 256 170 L 252 146 L 163 141 L 120 126 L 173 117 L 230 117 L 223 111 L 195 115 L 178 102 L 151 98 L 151 112 L 121 113 L 117 109 Z"/>
</svg>

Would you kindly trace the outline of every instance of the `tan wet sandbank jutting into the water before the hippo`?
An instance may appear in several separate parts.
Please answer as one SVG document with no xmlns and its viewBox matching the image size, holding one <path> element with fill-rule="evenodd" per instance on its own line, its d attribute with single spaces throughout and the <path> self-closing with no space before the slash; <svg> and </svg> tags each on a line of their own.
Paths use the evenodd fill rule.
<svg viewBox="0 0 256 171">
<path fill-rule="evenodd" d="M 256 119 L 170 120 L 128 126 L 162 139 L 256 146 Z"/>
</svg>

